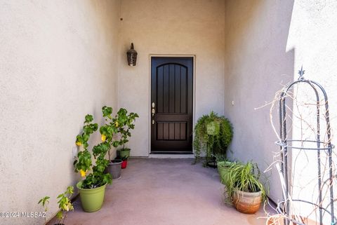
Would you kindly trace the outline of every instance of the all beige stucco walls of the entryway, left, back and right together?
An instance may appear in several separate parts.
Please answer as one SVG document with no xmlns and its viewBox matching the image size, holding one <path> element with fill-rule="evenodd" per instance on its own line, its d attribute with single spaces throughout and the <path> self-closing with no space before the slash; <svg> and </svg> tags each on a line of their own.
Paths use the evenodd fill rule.
<svg viewBox="0 0 337 225">
<path fill-rule="evenodd" d="M 1 1 L 0 212 L 39 212 L 46 195 L 48 216 L 56 212 L 55 197 L 79 179 L 74 137 L 84 115 L 100 118 L 105 104 L 140 115 L 129 146 L 131 156 L 148 156 L 150 55 L 195 56 L 194 121 L 225 114 L 234 126 L 231 157 L 261 170 L 278 148 L 270 106 L 256 108 L 297 79 L 302 64 L 326 88 L 336 130 L 336 11 L 333 1 L 307 0 Z M 126 64 L 131 42 L 136 67 Z M 277 201 L 279 178 L 267 176 Z"/>
</svg>

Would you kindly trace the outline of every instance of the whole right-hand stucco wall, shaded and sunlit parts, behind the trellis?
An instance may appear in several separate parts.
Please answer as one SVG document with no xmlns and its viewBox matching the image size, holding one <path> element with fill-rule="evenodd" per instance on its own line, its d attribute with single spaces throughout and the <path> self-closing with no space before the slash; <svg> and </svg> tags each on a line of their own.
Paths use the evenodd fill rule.
<svg viewBox="0 0 337 225">
<path fill-rule="evenodd" d="M 256 161 L 263 170 L 273 161 L 272 156 L 279 149 L 274 144 L 277 136 L 270 125 L 270 105 L 255 108 L 271 102 L 284 84 L 297 80 L 302 65 L 305 78 L 318 81 L 326 89 L 331 127 L 336 130 L 336 10 L 333 1 L 226 1 L 225 115 L 234 125 L 233 158 Z M 291 102 L 288 103 L 291 107 Z M 315 119 L 309 119 L 312 115 L 315 112 L 304 111 L 303 118 L 315 127 Z M 278 115 L 274 118 L 277 125 Z M 293 121 L 289 139 L 298 139 L 300 123 L 296 117 Z M 305 191 L 303 187 L 315 185 L 305 178 L 305 174 L 316 174 L 315 166 L 308 164 L 311 156 L 300 157 L 293 157 L 293 163 L 304 166 L 296 169 L 300 177 L 295 177 L 294 182 L 301 186 L 293 189 L 293 196 L 312 200 L 315 192 L 311 194 L 312 189 Z M 277 201 L 282 198 L 282 189 L 276 170 L 268 177 L 270 197 Z"/>
</svg>

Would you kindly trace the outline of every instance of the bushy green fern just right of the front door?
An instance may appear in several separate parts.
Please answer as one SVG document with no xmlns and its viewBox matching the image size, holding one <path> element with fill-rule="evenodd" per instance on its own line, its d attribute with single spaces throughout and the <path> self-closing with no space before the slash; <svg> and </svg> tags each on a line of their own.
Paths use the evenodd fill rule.
<svg viewBox="0 0 337 225">
<path fill-rule="evenodd" d="M 207 125 L 212 135 L 207 132 Z M 225 156 L 232 137 L 232 125 L 225 116 L 218 116 L 213 111 L 209 115 L 201 116 L 194 127 L 193 146 L 196 161 L 200 158 L 201 151 L 212 151 L 213 155 Z"/>
</svg>

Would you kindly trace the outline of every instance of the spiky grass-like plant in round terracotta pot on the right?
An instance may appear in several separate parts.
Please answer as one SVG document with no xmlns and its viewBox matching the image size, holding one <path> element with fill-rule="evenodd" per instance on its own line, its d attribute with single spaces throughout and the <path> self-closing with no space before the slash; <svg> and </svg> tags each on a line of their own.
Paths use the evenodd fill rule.
<svg viewBox="0 0 337 225">
<path fill-rule="evenodd" d="M 227 196 L 239 212 L 256 213 L 266 199 L 265 187 L 259 179 L 260 170 L 256 163 L 235 163 L 230 167 Z"/>
</svg>

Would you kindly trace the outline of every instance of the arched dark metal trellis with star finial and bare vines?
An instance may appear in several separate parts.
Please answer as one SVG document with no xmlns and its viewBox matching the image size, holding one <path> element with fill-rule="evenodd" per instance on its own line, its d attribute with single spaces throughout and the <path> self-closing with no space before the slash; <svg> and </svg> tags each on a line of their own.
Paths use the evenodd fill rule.
<svg viewBox="0 0 337 225">
<path fill-rule="evenodd" d="M 314 207 L 317 207 L 319 210 L 319 224 L 323 224 L 323 219 L 325 213 L 327 213 L 331 217 L 331 225 L 336 224 L 336 217 L 333 212 L 333 165 L 332 165 L 332 149 L 333 144 L 331 144 L 331 128 L 330 128 L 330 121 L 329 121 L 329 104 L 328 104 L 328 97 L 326 95 L 326 91 L 324 88 L 315 81 L 310 81 L 304 78 L 304 70 L 303 67 L 298 71 L 298 74 L 300 74 L 298 81 L 293 81 L 293 83 L 290 83 L 288 86 L 284 88 L 281 95 L 279 96 L 279 135 L 280 140 L 276 142 L 277 145 L 280 146 L 281 149 L 281 158 L 282 158 L 282 183 L 284 184 L 283 190 L 284 190 L 284 200 L 280 202 L 277 205 L 277 211 L 280 214 L 284 215 L 284 224 L 288 225 L 290 222 L 293 224 L 300 224 L 305 225 L 303 221 L 298 221 L 298 219 L 292 217 L 290 213 L 290 207 L 293 203 L 305 203 L 310 204 Z M 291 88 L 294 88 L 296 85 L 300 85 L 302 83 L 308 84 L 315 92 L 316 96 L 316 107 L 317 107 L 317 133 L 315 140 L 307 140 L 307 139 L 287 139 L 287 128 L 286 128 L 286 97 L 289 96 L 289 91 Z M 319 94 L 323 95 L 324 99 L 324 105 L 325 105 L 325 114 L 324 118 L 326 121 L 326 136 L 327 140 L 326 142 L 321 140 L 321 132 L 320 132 L 320 105 L 319 102 L 321 101 Z M 316 143 L 317 147 L 306 147 L 305 144 L 312 144 Z M 300 200 L 300 199 L 292 199 L 291 195 L 289 193 L 290 189 L 290 180 L 289 180 L 289 169 L 288 169 L 288 154 L 292 149 L 299 149 L 303 151 L 317 151 L 317 184 L 319 187 L 319 193 L 318 193 L 318 204 L 309 202 L 307 200 Z M 325 152 L 328 157 L 329 161 L 329 177 L 326 180 L 326 182 L 329 182 L 329 205 L 330 210 L 327 208 L 324 208 L 322 205 L 322 185 L 324 185 L 325 182 L 322 182 L 322 168 L 321 168 L 321 154 L 322 152 Z M 328 205 L 328 208 L 329 208 Z"/>
</svg>

